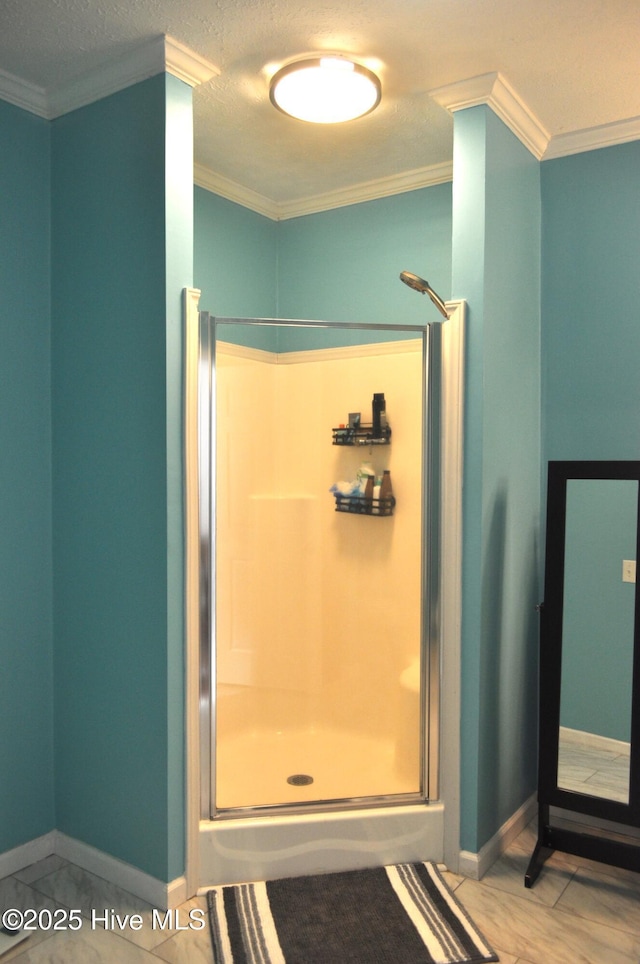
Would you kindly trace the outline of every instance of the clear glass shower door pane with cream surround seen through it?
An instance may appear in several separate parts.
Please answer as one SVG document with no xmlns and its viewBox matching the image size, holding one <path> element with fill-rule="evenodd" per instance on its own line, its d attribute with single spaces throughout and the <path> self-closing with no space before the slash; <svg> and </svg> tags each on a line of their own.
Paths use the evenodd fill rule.
<svg viewBox="0 0 640 964">
<path fill-rule="evenodd" d="M 211 324 L 212 813 L 423 798 L 425 329 Z M 392 514 L 330 491 L 384 469 Z"/>
</svg>

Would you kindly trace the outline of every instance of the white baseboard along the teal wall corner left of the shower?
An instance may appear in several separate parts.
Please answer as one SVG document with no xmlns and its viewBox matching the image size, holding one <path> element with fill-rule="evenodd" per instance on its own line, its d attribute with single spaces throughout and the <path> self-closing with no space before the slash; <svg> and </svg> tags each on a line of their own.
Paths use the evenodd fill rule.
<svg viewBox="0 0 640 964">
<path fill-rule="evenodd" d="M 91 847 L 73 837 L 67 837 L 59 830 L 52 830 L 21 847 L 15 847 L 0 854 L 0 880 L 51 854 L 77 864 L 83 870 L 88 870 L 89 873 L 122 887 L 123 890 L 162 910 L 178 907 L 191 896 L 187 893 L 187 881 L 184 876 L 165 883 L 123 860 L 118 860 L 117 857 L 105 854 L 96 847 Z"/>
</svg>

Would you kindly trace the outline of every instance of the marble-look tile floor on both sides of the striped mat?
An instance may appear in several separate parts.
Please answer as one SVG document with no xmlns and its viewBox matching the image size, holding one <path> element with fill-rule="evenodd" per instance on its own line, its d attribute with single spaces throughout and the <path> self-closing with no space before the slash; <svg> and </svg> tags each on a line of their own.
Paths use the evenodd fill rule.
<svg viewBox="0 0 640 964">
<path fill-rule="evenodd" d="M 535 843 L 535 824 L 513 842 L 481 881 L 446 874 L 449 886 L 500 956 L 502 964 L 638 964 L 640 874 L 554 854 L 531 890 L 524 874 Z M 57 857 L 48 857 L 0 881 L 0 907 L 20 910 L 78 908 L 75 932 L 37 932 L 1 958 L 1 964 L 212 964 L 205 900 L 180 908 L 185 930 L 162 930 L 153 909 L 112 884 Z M 92 926 L 92 911 L 139 914 L 139 929 Z M 327 964 L 339 964 L 328 961 Z M 371 964 L 375 964 L 372 961 Z M 402 964 L 401 961 L 398 964 Z"/>
</svg>

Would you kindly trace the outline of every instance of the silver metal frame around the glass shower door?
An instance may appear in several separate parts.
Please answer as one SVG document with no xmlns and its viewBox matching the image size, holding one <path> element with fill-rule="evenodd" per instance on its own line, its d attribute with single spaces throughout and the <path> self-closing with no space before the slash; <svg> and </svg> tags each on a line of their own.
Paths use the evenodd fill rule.
<svg viewBox="0 0 640 964">
<path fill-rule="evenodd" d="M 415 793 L 331 798 L 274 806 L 216 810 L 216 328 L 219 324 L 277 325 L 374 332 L 414 333 L 422 338 L 422 551 L 420 619 L 420 789 Z M 199 312 L 197 364 L 198 516 L 199 516 L 199 729 L 200 819 L 292 813 L 300 810 L 344 810 L 428 803 L 440 792 L 440 680 L 441 680 L 441 394 L 442 325 L 372 325 L 327 321 L 222 318 Z"/>
</svg>

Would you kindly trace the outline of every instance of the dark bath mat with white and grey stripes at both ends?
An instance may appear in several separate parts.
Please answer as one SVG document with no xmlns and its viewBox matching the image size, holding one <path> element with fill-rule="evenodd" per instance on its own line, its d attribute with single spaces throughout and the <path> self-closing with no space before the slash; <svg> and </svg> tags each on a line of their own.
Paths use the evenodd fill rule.
<svg viewBox="0 0 640 964">
<path fill-rule="evenodd" d="M 207 893 L 215 964 L 480 964 L 498 958 L 432 863 Z"/>
</svg>

